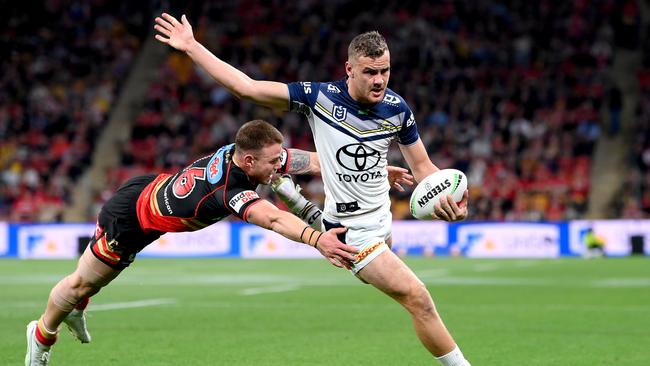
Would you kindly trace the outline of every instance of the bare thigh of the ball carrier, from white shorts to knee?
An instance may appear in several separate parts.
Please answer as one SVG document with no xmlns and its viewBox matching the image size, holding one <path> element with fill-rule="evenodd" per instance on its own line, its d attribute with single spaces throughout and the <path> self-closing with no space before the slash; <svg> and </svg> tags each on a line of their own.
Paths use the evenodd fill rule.
<svg viewBox="0 0 650 366">
<path fill-rule="evenodd" d="M 423 286 L 415 273 L 390 250 L 368 263 L 357 276 L 393 297 L 407 295 Z"/>
</svg>

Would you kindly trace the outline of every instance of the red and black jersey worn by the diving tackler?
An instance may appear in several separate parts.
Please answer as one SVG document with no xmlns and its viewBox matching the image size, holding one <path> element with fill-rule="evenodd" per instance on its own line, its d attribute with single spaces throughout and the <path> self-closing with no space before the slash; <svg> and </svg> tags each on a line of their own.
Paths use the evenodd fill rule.
<svg viewBox="0 0 650 366">
<path fill-rule="evenodd" d="M 137 215 L 145 232 L 195 231 L 230 214 L 246 221 L 246 211 L 260 200 L 246 173 L 232 161 L 235 145 L 223 146 L 180 172 L 161 174 L 142 191 Z M 288 150 L 283 150 L 281 172 Z"/>
</svg>

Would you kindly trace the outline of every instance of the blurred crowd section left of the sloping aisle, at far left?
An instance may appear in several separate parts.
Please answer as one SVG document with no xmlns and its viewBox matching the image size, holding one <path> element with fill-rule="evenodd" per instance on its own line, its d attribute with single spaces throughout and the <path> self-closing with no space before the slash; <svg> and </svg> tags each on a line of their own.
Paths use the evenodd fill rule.
<svg viewBox="0 0 650 366">
<path fill-rule="evenodd" d="M 0 220 L 60 221 L 150 10 L 14 4 L 0 27 Z"/>
</svg>

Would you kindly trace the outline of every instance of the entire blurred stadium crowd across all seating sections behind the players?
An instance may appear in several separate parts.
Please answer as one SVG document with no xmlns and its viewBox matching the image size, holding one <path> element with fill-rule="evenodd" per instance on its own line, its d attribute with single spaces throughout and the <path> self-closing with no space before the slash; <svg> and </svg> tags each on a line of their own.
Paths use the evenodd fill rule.
<svg viewBox="0 0 650 366">
<path fill-rule="evenodd" d="M 432 160 L 440 168 L 453 167 L 468 175 L 470 218 L 537 221 L 579 218 L 586 212 L 594 143 L 601 131 L 617 133 L 618 128 L 615 117 L 608 123 L 601 121 L 602 108 L 617 116 L 621 104 L 620 92 L 605 76 L 615 41 L 611 15 L 620 12 L 621 3 L 630 2 L 634 1 L 334 1 L 325 6 L 315 0 L 228 1 L 193 3 L 187 14 L 197 38 L 217 56 L 251 77 L 285 82 L 343 78 L 349 40 L 361 31 L 379 30 L 391 49 L 389 87 L 401 93 L 416 113 Z M 33 194 L 28 188 L 36 180 L 41 183 L 36 184 L 38 190 L 54 192 L 61 202 L 69 200 L 66 188 L 87 164 L 116 84 L 137 51 L 138 37 L 125 32 L 127 25 L 122 22 L 126 18 L 94 14 L 90 19 L 83 23 L 88 30 L 82 40 L 68 32 L 72 38 L 58 48 L 64 56 L 40 57 L 41 63 L 56 71 L 50 73 L 56 77 L 45 82 L 38 74 L 18 70 L 37 68 L 33 66 L 37 56 L 51 51 L 25 47 L 22 54 L 3 57 L 2 62 L 8 62 L 3 69 L 10 70 L 7 74 L 19 75 L 0 79 L 4 91 L 0 118 L 13 121 L 0 123 L 12 126 L 0 127 L 4 182 L 0 215 L 4 217 L 21 205 L 24 192 Z M 142 24 L 148 26 L 152 19 Z M 71 21 L 77 27 L 81 23 Z M 4 37 L 11 29 L 5 29 Z M 47 29 L 39 32 L 40 37 L 43 33 Z M 114 33 L 122 38 L 107 36 Z M 84 57 L 78 57 L 80 62 L 100 57 L 104 65 L 97 69 L 110 70 L 110 74 L 95 72 L 98 60 L 90 62 L 93 67 L 87 67 L 88 72 L 71 74 L 78 69 L 69 64 L 75 51 L 66 46 L 75 42 L 86 47 Z M 48 43 L 41 40 L 38 44 Z M 104 46 L 98 49 L 97 44 Z M 32 61 L 19 62 L 19 55 Z M 65 62 L 56 61 L 60 59 Z M 129 177 L 181 168 L 230 142 L 237 127 L 252 118 L 278 126 L 287 145 L 313 149 L 311 132 L 299 115 L 275 113 L 234 99 L 184 54 L 170 52 L 159 74 L 133 123 L 131 141 L 120 148 L 121 166 L 109 174 L 106 191 L 97 195 L 97 207 Z M 13 89 L 8 89 L 16 82 L 12 80 L 19 80 L 20 89 L 28 92 L 14 96 Z M 58 85 L 61 96 L 52 84 Z M 647 101 L 647 85 L 644 90 Z M 34 94 L 46 99 L 36 102 Z M 80 96 L 75 104 L 76 95 Z M 42 111 L 51 104 L 58 106 L 55 115 L 63 117 L 47 118 L 40 122 L 40 129 L 32 127 L 39 126 L 41 116 L 52 114 Z M 30 117 L 7 117 L 17 108 Z M 647 107 L 642 108 L 638 123 L 647 125 L 649 113 Z M 30 141 L 31 145 L 39 141 L 30 134 L 51 138 L 42 139 L 45 148 L 38 143 L 12 147 L 10 141 Z M 635 145 L 639 178 L 631 185 L 637 188 L 650 186 L 649 141 L 646 136 Z M 39 167 L 37 162 L 43 160 L 56 164 Z M 406 166 L 396 147 L 389 161 Z M 322 204 L 319 179 L 300 177 L 298 181 L 308 197 Z M 649 192 L 628 193 L 646 197 L 641 205 L 649 209 Z M 410 218 L 409 194 L 408 190 L 394 192 L 395 218 Z M 29 200 L 25 202 L 29 205 Z M 43 215 L 34 216 L 40 210 L 16 212 L 21 211 L 29 212 L 30 219 L 43 219 Z"/>
</svg>

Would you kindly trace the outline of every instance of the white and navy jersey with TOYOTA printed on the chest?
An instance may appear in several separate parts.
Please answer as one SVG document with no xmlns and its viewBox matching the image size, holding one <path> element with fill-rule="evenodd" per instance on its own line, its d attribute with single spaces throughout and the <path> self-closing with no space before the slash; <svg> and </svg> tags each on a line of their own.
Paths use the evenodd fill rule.
<svg viewBox="0 0 650 366">
<path fill-rule="evenodd" d="M 378 210 L 390 199 L 386 155 L 393 141 L 419 138 L 415 117 L 390 89 L 382 102 L 358 103 L 345 80 L 289 84 L 290 108 L 309 120 L 325 183 L 327 216 L 345 218 Z"/>
</svg>

